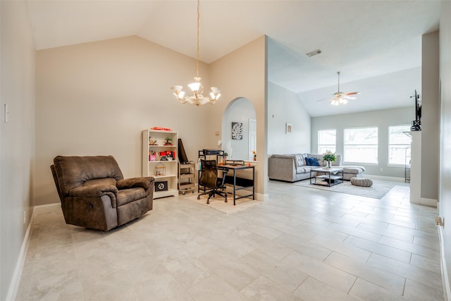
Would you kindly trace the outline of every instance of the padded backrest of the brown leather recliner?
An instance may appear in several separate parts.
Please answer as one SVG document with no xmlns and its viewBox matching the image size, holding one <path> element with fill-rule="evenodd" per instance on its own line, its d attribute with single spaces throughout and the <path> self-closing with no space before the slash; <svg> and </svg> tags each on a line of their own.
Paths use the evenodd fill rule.
<svg viewBox="0 0 451 301">
<path fill-rule="evenodd" d="M 56 156 L 54 171 L 58 180 L 60 197 L 86 181 L 113 178 L 122 180 L 123 174 L 113 156 Z"/>
</svg>

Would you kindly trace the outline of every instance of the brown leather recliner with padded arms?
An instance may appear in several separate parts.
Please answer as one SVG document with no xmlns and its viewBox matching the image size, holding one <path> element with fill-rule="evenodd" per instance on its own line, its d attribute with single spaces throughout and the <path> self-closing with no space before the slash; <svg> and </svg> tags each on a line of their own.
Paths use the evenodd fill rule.
<svg viewBox="0 0 451 301">
<path fill-rule="evenodd" d="M 68 224 L 109 231 L 152 210 L 154 178 L 124 179 L 113 156 L 56 156 L 50 168 Z"/>
</svg>

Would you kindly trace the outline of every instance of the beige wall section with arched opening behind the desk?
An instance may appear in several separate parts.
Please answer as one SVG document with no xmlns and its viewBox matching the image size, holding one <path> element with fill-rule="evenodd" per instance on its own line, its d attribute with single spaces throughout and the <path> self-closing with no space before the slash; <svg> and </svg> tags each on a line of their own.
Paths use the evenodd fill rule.
<svg viewBox="0 0 451 301">
<path fill-rule="evenodd" d="M 245 97 L 254 105 L 257 119 L 257 197 L 262 199 L 266 187 L 266 37 L 262 36 L 240 49 L 214 61 L 210 66 L 211 85 L 221 87 L 221 100 L 211 106 L 207 138 L 216 147 L 223 111 L 229 102 Z"/>
</svg>

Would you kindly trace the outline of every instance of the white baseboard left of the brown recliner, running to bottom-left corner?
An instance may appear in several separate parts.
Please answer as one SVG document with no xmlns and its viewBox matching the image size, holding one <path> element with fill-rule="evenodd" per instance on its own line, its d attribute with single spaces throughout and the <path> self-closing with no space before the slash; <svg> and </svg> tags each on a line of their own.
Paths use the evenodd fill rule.
<svg viewBox="0 0 451 301">
<path fill-rule="evenodd" d="M 25 257 L 27 256 L 28 245 L 30 245 L 31 231 L 33 222 L 35 221 L 35 215 L 44 212 L 48 207 L 60 206 L 61 203 L 45 204 L 35 206 L 31 214 L 30 223 L 28 223 L 27 231 L 23 238 L 22 246 L 20 247 L 19 257 L 16 262 L 16 267 L 14 268 L 13 277 L 11 278 L 11 283 L 8 288 L 8 295 L 6 295 L 7 301 L 16 300 L 16 296 L 19 290 L 20 278 L 22 278 L 23 266 L 25 264 Z"/>
</svg>

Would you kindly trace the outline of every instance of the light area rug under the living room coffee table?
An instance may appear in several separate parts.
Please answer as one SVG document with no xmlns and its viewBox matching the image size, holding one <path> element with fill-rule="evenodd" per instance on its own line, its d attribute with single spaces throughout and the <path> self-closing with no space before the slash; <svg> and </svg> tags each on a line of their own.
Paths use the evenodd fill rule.
<svg viewBox="0 0 451 301">
<path fill-rule="evenodd" d="M 392 188 L 397 184 L 387 180 L 373 180 L 371 187 L 359 187 L 351 184 L 350 181 L 345 180 L 343 183 L 333 185 L 332 187 L 323 185 L 310 185 L 310 180 L 302 180 L 293 183 L 294 185 L 314 188 L 320 190 L 328 190 L 333 192 L 346 193 L 347 195 L 359 195 L 361 197 L 371 197 L 373 199 L 382 199 Z"/>
</svg>

